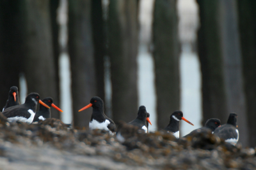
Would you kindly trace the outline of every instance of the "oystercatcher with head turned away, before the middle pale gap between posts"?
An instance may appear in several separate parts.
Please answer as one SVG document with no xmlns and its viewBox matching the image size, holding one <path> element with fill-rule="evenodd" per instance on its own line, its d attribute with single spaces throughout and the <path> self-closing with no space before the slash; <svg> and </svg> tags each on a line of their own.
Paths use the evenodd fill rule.
<svg viewBox="0 0 256 170">
<path fill-rule="evenodd" d="M 152 125 L 150 120 L 149 120 L 149 115 L 148 115 L 148 118 L 147 118 L 146 107 L 144 105 L 141 105 L 139 107 L 137 118 L 135 120 L 132 120 L 128 124 L 134 125 L 134 126 L 139 127 L 139 128 L 142 128 L 147 133 L 148 132 L 147 121 L 148 121 L 148 123 L 150 123 L 150 125 Z"/>
</svg>

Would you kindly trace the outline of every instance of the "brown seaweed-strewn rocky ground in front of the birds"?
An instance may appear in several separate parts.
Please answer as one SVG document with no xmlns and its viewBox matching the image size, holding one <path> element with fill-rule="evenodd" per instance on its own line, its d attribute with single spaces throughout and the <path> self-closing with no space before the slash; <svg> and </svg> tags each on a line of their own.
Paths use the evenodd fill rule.
<svg viewBox="0 0 256 170">
<path fill-rule="evenodd" d="M 177 141 L 164 132 L 124 144 L 101 130 L 48 125 L 0 125 L 0 169 L 256 169 L 255 149 L 211 133 Z"/>
</svg>

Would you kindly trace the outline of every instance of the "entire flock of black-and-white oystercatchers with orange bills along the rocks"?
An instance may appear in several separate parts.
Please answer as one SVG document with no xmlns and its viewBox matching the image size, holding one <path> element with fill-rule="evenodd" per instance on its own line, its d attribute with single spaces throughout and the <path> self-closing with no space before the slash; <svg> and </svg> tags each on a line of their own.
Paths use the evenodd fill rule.
<svg viewBox="0 0 256 170">
<path fill-rule="evenodd" d="M 36 105 L 38 104 L 38 102 L 40 103 L 40 108 L 38 111 L 36 111 Z M 18 88 L 16 86 L 13 86 L 12 88 L 10 88 L 8 100 L 6 102 L 6 105 L 3 107 L 3 112 L 1 115 L 5 116 L 6 120 L 9 122 L 18 121 L 25 123 L 36 123 L 37 121 L 44 121 L 47 118 L 51 118 L 50 107 L 54 107 L 58 111 L 61 111 L 59 107 L 53 104 L 51 97 L 40 100 L 40 96 L 38 95 L 38 93 L 30 93 L 26 97 L 25 103 L 20 105 Z M 89 107 L 93 108 L 89 128 L 107 130 L 111 133 L 116 132 L 117 139 L 119 139 L 119 141 L 121 142 L 124 142 L 125 138 L 123 137 L 123 135 L 125 135 L 125 130 L 118 130 L 114 121 L 108 118 L 106 114 L 104 114 L 104 102 L 101 100 L 101 98 L 93 97 L 90 100 L 90 104 L 80 109 L 79 112 L 83 111 L 84 109 L 88 109 Z M 148 123 L 152 125 L 149 117 L 150 114 L 147 112 L 146 107 L 144 105 L 141 105 L 138 110 L 137 118 L 127 124 L 130 127 L 137 127 L 138 129 L 141 129 L 147 133 Z M 190 125 L 193 125 L 193 123 L 183 117 L 182 111 L 175 111 L 170 116 L 170 123 L 163 130 L 170 132 L 177 139 L 179 139 L 180 120 L 184 120 Z M 212 134 L 218 135 L 220 138 L 225 139 L 227 143 L 236 145 L 237 141 L 239 140 L 239 131 L 237 130 L 236 122 L 236 113 L 230 113 L 227 124 L 222 126 L 220 125 L 220 120 L 216 118 L 211 118 L 207 120 L 204 127 L 197 128 L 196 130 L 190 132 L 188 135 L 185 135 L 184 137 L 193 136 L 198 132 L 209 131 L 212 132 Z"/>
</svg>

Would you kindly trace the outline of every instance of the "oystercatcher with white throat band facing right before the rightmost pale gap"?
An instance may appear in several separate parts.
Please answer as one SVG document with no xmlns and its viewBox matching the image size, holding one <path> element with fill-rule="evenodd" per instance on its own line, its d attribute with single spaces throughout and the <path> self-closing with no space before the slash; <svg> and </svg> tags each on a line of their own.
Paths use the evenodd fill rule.
<svg viewBox="0 0 256 170">
<path fill-rule="evenodd" d="M 183 117 L 182 111 L 175 111 L 170 116 L 170 123 L 167 125 L 166 128 L 164 128 L 164 130 L 171 132 L 177 139 L 179 139 L 179 137 L 180 137 L 180 132 L 179 132 L 180 120 L 184 120 L 184 121 L 188 122 L 190 125 L 193 125 L 193 123 L 191 123 L 190 121 L 186 120 Z"/>
</svg>

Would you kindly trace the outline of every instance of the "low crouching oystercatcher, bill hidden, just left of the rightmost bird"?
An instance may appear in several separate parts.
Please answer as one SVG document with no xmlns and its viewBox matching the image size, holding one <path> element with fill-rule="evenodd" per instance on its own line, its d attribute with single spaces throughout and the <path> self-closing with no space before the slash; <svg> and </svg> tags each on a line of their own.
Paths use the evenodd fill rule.
<svg viewBox="0 0 256 170">
<path fill-rule="evenodd" d="M 209 131 L 209 130 L 211 130 L 211 132 L 213 132 L 217 127 L 220 127 L 220 120 L 218 120 L 216 118 L 211 118 L 206 121 L 204 127 L 196 128 L 195 130 L 193 130 L 189 134 L 185 135 L 184 137 L 193 136 L 196 133 Z"/>
</svg>

